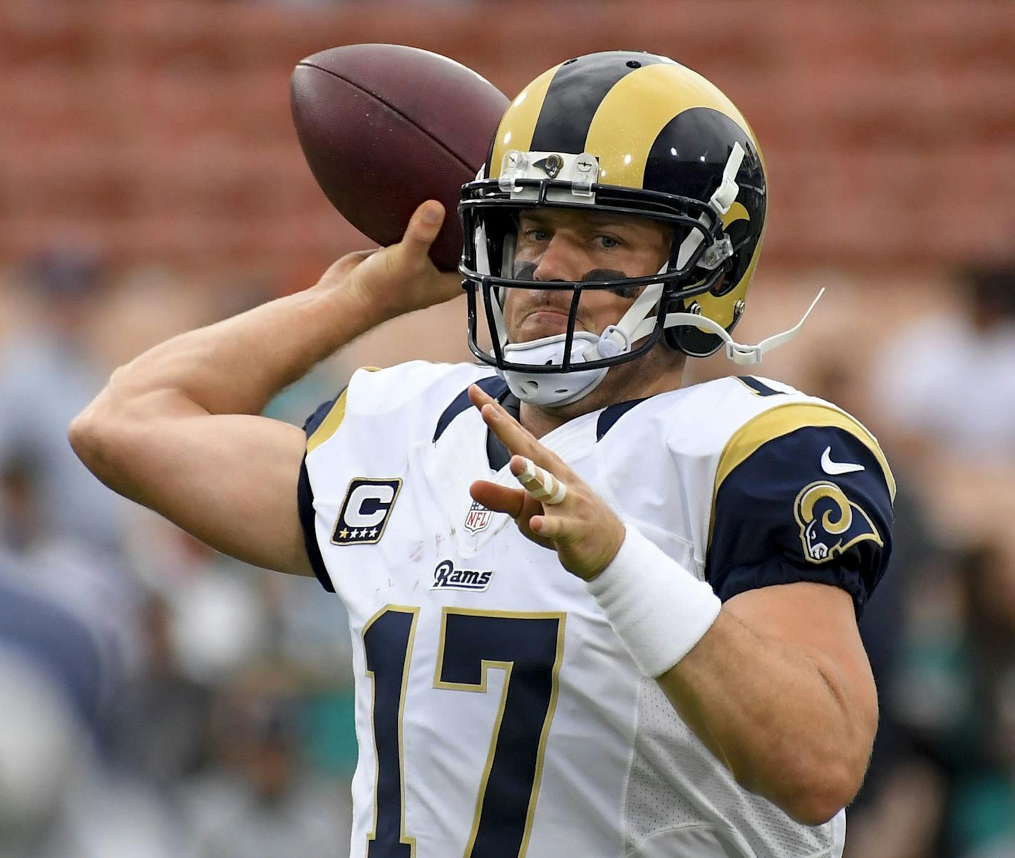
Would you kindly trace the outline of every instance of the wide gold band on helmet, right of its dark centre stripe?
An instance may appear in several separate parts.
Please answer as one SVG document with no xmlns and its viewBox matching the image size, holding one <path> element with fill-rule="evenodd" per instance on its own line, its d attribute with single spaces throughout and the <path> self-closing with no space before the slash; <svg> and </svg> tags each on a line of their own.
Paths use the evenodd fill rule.
<svg viewBox="0 0 1015 858">
<path fill-rule="evenodd" d="M 640 188 L 659 133 L 691 108 L 720 111 L 735 120 L 757 146 L 740 111 L 697 72 L 678 63 L 642 66 L 617 81 L 589 126 L 585 148 L 599 156 L 599 181 Z"/>
</svg>

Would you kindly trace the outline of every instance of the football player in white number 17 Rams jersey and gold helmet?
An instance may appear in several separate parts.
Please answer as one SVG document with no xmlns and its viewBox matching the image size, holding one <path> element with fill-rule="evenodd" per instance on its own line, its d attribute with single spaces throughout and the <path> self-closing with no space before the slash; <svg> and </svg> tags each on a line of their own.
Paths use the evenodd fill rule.
<svg viewBox="0 0 1015 858">
<path fill-rule="evenodd" d="M 400 243 L 121 368 L 73 424 L 117 491 L 344 601 L 352 855 L 840 854 L 891 473 L 830 403 L 681 384 L 688 356 L 749 366 L 793 333 L 731 334 L 766 206 L 754 134 L 707 80 L 568 60 L 463 189 L 460 277 L 427 259 L 424 203 Z M 306 436 L 259 416 L 463 278 L 478 363 L 357 371 Z"/>
</svg>

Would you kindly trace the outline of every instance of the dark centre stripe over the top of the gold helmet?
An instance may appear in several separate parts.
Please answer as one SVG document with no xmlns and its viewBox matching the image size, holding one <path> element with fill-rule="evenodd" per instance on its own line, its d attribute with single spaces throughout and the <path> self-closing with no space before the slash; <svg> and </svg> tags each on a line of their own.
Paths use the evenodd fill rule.
<svg viewBox="0 0 1015 858">
<path fill-rule="evenodd" d="M 632 68 L 628 62 L 638 66 Z M 634 68 L 662 62 L 664 58 L 653 54 L 609 51 L 590 54 L 560 66 L 546 90 L 530 149 L 534 152 L 584 152 L 589 127 L 606 93 Z"/>
</svg>

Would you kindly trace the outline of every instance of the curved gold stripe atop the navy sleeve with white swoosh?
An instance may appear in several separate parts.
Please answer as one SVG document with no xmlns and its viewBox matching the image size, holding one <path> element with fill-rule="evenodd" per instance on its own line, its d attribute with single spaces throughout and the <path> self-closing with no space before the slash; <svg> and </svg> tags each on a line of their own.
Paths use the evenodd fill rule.
<svg viewBox="0 0 1015 858">
<path fill-rule="evenodd" d="M 759 447 L 768 441 L 789 435 L 797 429 L 806 426 L 834 426 L 843 429 L 860 440 L 877 458 L 888 484 L 888 493 L 895 499 L 895 478 L 892 476 L 888 460 L 881 451 L 874 436 L 867 429 L 842 412 L 828 406 L 812 403 L 787 403 L 776 406 L 740 427 L 733 437 L 727 441 L 719 457 L 719 468 L 716 472 L 716 488 L 712 496 L 712 518 L 708 525 L 708 543 L 712 544 L 712 526 L 716 520 L 716 498 L 719 489 L 734 469 L 746 461 Z"/>
</svg>

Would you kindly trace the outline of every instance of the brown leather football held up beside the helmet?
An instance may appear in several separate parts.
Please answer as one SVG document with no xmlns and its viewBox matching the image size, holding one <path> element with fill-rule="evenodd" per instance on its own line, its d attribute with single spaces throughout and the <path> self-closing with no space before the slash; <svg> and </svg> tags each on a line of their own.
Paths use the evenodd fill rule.
<svg viewBox="0 0 1015 858">
<path fill-rule="evenodd" d="M 461 63 L 404 45 L 347 45 L 299 62 L 290 87 L 303 155 L 332 205 L 379 244 L 424 200 L 445 223 L 430 248 L 458 267 L 459 194 L 486 160 L 507 98 Z"/>
</svg>

